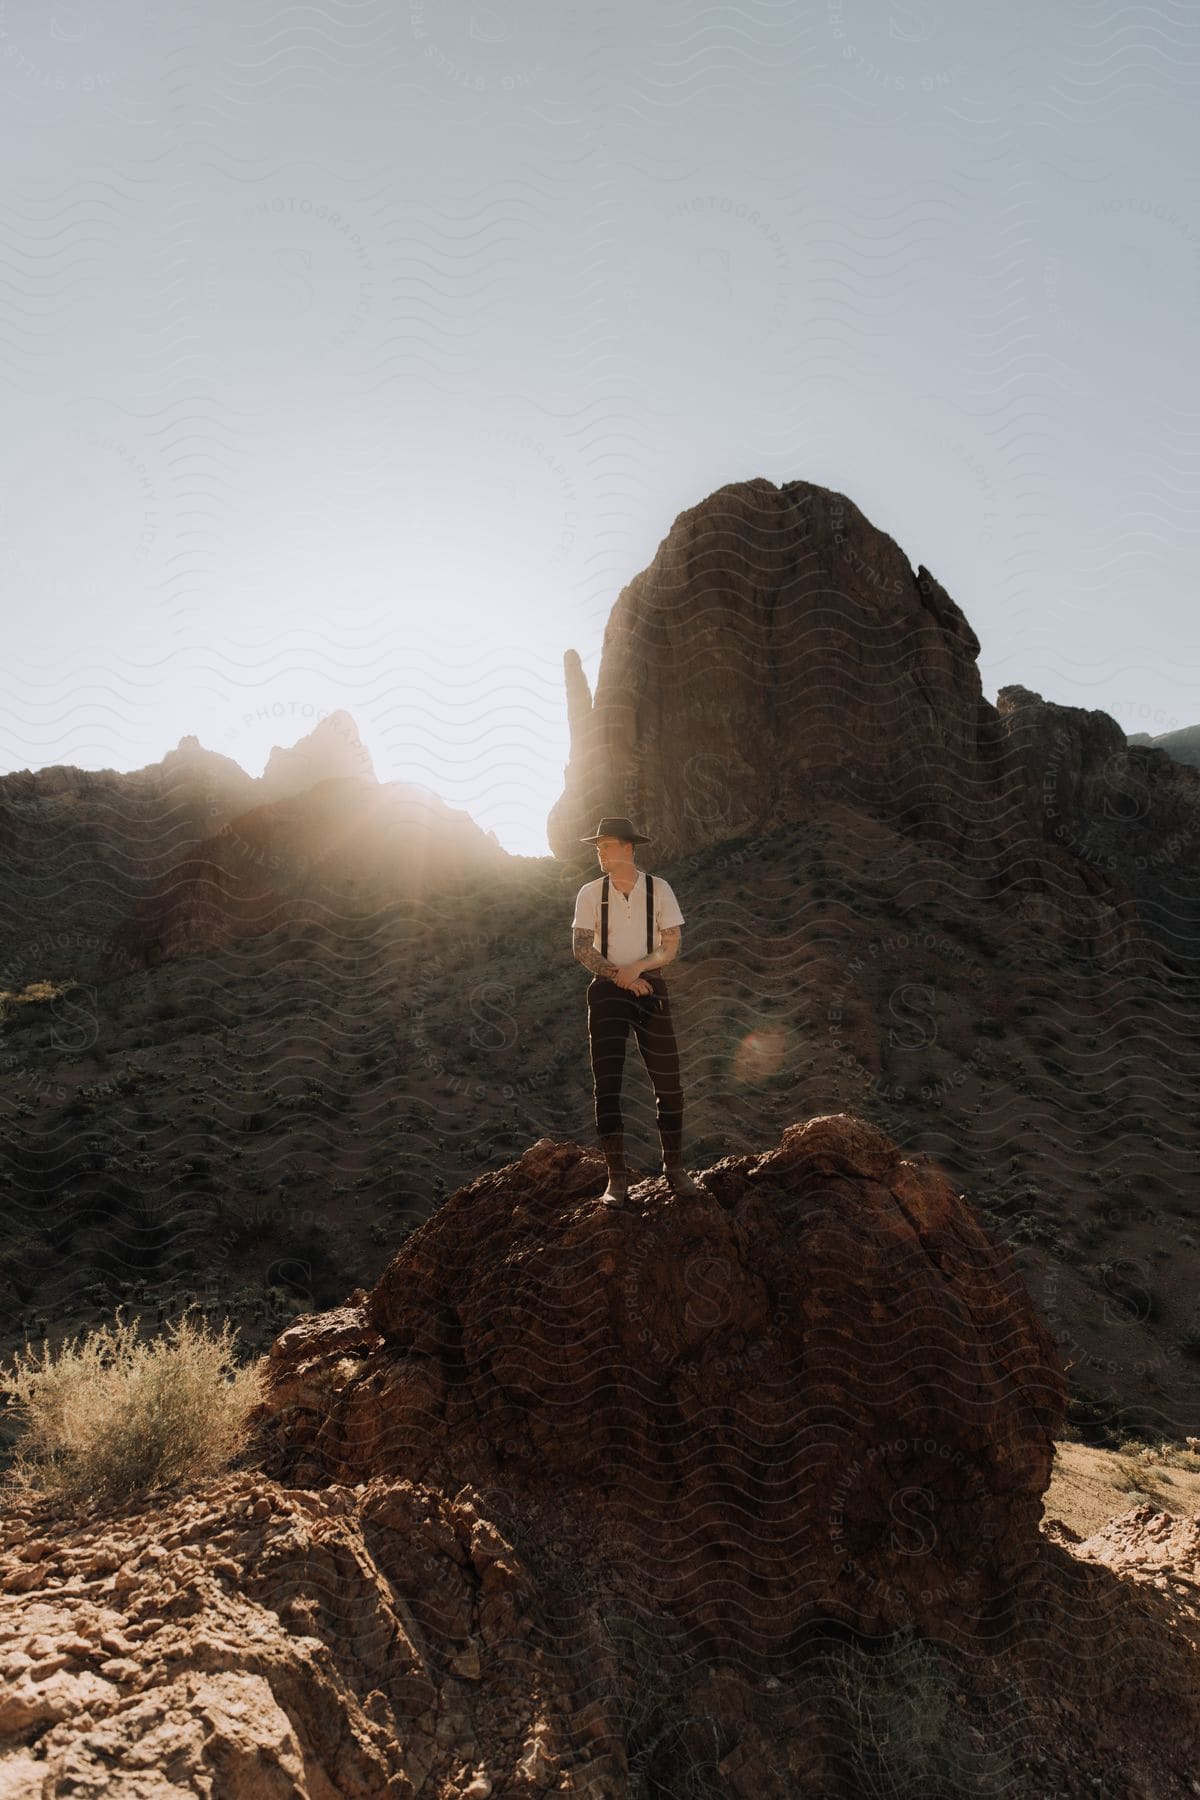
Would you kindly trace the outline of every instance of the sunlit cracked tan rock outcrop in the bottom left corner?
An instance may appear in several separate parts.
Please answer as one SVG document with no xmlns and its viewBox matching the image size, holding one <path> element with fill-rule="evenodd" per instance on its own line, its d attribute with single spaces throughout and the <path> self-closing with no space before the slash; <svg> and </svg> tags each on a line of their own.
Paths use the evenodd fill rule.
<svg viewBox="0 0 1200 1800">
<path fill-rule="evenodd" d="M 624 1791 L 470 1494 L 228 1476 L 149 1517 L 18 1503 L 0 1544 L 5 1800 Z"/>
</svg>

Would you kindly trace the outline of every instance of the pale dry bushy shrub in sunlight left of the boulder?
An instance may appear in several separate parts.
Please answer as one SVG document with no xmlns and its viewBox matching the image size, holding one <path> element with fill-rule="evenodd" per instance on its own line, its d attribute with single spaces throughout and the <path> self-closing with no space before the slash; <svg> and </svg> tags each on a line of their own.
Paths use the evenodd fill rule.
<svg viewBox="0 0 1200 1800">
<path fill-rule="evenodd" d="M 228 1467 L 263 1397 L 257 1364 L 234 1363 L 228 1321 L 218 1337 L 187 1312 L 167 1337 L 139 1341 L 139 1321 L 115 1323 L 34 1355 L 25 1343 L 0 1368 L 23 1433 L 5 1474 L 11 1487 L 70 1501 L 119 1501 Z"/>
</svg>

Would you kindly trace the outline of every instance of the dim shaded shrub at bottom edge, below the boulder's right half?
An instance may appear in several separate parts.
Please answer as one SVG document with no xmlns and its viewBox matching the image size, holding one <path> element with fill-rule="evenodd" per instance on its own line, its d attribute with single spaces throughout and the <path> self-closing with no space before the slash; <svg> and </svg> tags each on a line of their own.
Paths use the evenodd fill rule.
<svg viewBox="0 0 1200 1800">
<path fill-rule="evenodd" d="M 885 1647 L 833 1652 L 838 1760 L 862 1800 L 984 1800 L 1007 1789 L 1006 1757 L 973 1741 L 932 1643 L 900 1631 Z"/>
</svg>

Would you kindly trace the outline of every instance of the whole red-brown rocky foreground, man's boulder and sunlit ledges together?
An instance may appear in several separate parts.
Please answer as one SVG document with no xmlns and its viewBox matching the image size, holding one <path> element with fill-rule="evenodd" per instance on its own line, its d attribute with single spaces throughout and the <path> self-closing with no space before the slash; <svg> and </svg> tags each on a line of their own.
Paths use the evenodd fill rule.
<svg viewBox="0 0 1200 1800">
<path fill-rule="evenodd" d="M 833 1116 L 601 1186 L 453 1193 L 243 1469 L 0 1514 L 2 1791 L 1193 1795 L 1195 1532 L 1042 1517 L 1061 1368 L 937 1168 Z"/>
</svg>

